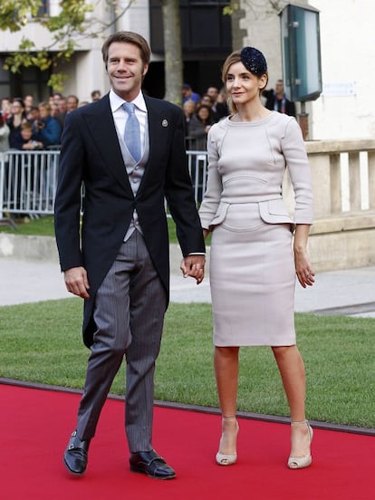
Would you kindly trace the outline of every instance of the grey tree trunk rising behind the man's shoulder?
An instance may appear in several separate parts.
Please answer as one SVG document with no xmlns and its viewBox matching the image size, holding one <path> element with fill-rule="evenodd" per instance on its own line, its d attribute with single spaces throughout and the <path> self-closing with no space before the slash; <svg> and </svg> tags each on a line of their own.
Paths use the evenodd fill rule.
<svg viewBox="0 0 375 500">
<path fill-rule="evenodd" d="M 165 49 L 165 82 L 166 93 L 164 99 L 182 104 L 182 48 L 181 24 L 179 18 L 178 0 L 162 0 Z"/>
</svg>

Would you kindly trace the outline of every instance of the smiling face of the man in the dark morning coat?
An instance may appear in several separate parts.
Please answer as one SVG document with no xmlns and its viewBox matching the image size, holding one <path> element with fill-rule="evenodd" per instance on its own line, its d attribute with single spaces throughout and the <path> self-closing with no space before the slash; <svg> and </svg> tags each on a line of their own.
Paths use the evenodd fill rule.
<svg viewBox="0 0 375 500">
<path fill-rule="evenodd" d="M 114 42 L 108 51 L 107 72 L 113 91 L 125 101 L 133 101 L 139 94 L 143 76 L 149 69 L 133 43 Z"/>
</svg>

